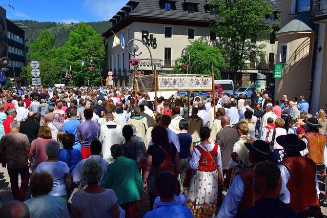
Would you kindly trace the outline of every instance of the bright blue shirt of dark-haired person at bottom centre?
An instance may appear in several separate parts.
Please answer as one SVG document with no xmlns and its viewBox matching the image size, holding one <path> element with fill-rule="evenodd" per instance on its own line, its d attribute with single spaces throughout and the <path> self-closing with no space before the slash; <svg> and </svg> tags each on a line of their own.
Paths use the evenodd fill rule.
<svg viewBox="0 0 327 218">
<path fill-rule="evenodd" d="M 187 207 L 178 205 L 175 201 L 160 202 L 157 209 L 147 212 L 144 218 L 193 218 Z"/>
</svg>

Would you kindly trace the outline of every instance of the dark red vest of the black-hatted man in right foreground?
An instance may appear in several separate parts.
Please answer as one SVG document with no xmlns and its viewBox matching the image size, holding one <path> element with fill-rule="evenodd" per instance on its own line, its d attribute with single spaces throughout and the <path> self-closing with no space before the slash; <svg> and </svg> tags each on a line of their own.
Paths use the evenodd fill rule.
<svg viewBox="0 0 327 218">
<path fill-rule="evenodd" d="M 309 205 L 319 206 L 315 183 L 316 164 L 303 156 L 287 157 L 280 164 L 290 172 L 286 185 L 291 196 L 288 205 L 295 212 L 307 210 Z"/>
</svg>

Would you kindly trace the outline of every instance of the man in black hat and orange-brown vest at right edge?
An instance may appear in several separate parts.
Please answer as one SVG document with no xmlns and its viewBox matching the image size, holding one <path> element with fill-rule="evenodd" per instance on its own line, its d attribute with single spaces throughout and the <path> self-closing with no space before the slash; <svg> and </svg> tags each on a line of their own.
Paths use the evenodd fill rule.
<svg viewBox="0 0 327 218">
<path fill-rule="evenodd" d="M 307 124 L 307 133 L 302 137 L 302 141 L 307 147 L 301 151 L 301 154 L 311 158 L 317 164 L 317 170 L 321 171 L 321 175 L 324 176 L 327 168 L 327 149 L 326 138 L 318 131 L 321 125 L 314 117 L 303 122 Z"/>
</svg>

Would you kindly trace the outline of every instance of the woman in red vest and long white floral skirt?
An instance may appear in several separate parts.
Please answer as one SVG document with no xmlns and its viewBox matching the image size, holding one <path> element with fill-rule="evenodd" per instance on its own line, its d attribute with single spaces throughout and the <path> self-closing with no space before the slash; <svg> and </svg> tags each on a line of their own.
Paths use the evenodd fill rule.
<svg viewBox="0 0 327 218">
<path fill-rule="evenodd" d="M 223 174 L 220 147 L 208 141 L 210 129 L 200 129 L 201 143 L 194 147 L 189 168 L 193 175 L 187 196 L 187 207 L 195 218 L 215 217 L 219 173 Z M 218 169 L 217 169 L 218 168 Z M 222 178 L 220 183 L 222 183 Z"/>
</svg>

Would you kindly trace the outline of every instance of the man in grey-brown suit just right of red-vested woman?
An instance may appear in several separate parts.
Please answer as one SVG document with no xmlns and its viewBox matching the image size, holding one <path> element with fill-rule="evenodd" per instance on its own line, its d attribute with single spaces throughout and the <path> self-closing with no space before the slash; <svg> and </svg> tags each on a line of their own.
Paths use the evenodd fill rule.
<svg viewBox="0 0 327 218">
<path fill-rule="evenodd" d="M 219 131 L 216 136 L 216 143 L 220 146 L 220 150 L 222 153 L 222 165 L 223 165 L 223 176 L 226 175 L 228 177 L 228 169 L 229 169 L 229 160 L 230 155 L 233 152 L 233 147 L 235 142 L 239 140 L 239 136 L 237 134 L 236 129 L 230 126 L 230 117 L 223 116 L 222 120 L 223 130 Z M 222 202 L 222 194 L 223 194 L 223 185 L 218 186 L 218 201 Z M 221 203 L 220 202 L 220 203 Z"/>
</svg>

